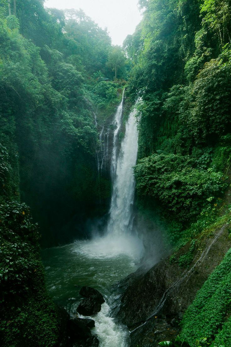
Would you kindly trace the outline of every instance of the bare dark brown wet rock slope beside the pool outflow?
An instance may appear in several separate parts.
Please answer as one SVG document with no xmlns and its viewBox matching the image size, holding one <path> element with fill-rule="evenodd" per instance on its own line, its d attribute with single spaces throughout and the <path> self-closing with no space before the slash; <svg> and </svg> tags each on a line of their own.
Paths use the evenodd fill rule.
<svg viewBox="0 0 231 347">
<path fill-rule="evenodd" d="M 132 347 L 158 346 L 178 335 L 186 308 L 230 248 L 228 229 L 226 222 L 204 237 L 187 269 L 167 257 L 147 272 L 139 269 L 119 283 L 121 304 L 115 314 L 128 326 Z"/>
</svg>

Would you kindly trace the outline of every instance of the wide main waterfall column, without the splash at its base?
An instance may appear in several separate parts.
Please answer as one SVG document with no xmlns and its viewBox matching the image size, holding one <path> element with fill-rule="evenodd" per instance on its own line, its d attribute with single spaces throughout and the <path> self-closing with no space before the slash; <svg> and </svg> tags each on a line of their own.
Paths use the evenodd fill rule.
<svg viewBox="0 0 231 347">
<path fill-rule="evenodd" d="M 110 206 L 110 218 L 107 231 L 109 235 L 124 235 L 133 227 L 133 201 L 135 180 L 133 166 L 136 164 L 138 151 L 138 131 L 134 109 L 126 123 L 125 137 L 121 144 L 113 179 L 113 194 Z M 116 146 L 116 145 L 115 145 Z M 113 149 L 116 153 L 116 150 Z"/>
</svg>

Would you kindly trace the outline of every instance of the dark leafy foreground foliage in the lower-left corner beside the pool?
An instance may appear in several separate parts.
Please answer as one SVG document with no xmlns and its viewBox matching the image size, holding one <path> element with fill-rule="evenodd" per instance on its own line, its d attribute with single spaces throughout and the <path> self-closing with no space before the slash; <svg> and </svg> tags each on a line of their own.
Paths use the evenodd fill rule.
<svg viewBox="0 0 231 347">
<path fill-rule="evenodd" d="M 37 226 L 24 203 L 0 206 L 1 346 L 54 346 L 56 307 L 44 286 Z"/>
</svg>

